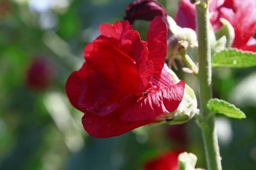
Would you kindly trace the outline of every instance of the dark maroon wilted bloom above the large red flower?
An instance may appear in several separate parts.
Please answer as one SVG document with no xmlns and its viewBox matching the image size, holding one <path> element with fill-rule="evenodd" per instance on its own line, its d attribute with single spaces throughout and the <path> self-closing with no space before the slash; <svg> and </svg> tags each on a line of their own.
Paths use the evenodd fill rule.
<svg viewBox="0 0 256 170">
<path fill-rule="evenodd" d="M 151 21 L 154 17 L 160 16 L 166 22 L 166 9 L 156 0 L 135 0 L 126 8 L 126 17 L 130 24 L 135 20 Z"/>
</svg>

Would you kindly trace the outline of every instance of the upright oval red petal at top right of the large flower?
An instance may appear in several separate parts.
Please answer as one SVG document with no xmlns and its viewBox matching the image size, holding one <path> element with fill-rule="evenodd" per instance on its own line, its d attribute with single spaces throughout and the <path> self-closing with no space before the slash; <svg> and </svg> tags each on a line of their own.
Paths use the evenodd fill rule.
<svg viewBox="0 0 256 170">
<path fill-rule="evenodd" d="M 153 62 L 154 73 L 160 73 L 167 54 L 167 27 L 159 16 L 152 20 L 146 42 L 148 47 L 148 59 Z"/>
</svg>

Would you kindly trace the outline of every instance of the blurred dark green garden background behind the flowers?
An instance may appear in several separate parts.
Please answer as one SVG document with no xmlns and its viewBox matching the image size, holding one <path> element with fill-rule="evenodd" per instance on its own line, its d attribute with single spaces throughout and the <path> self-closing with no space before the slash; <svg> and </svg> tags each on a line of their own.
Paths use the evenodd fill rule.
<svg viewBox="0 0 256 170">
<path fill-rule="evenodd" d="M 192 152 L 206 167 L 195 119 L 96 139 L 67 99 L 65 82 L 84 62 L 85 45 L 100 23 L 122 20 L 131 1 L 0 0 L 0 170 L 141 170 L 166 150 Z M 177 11 L 177 0 L 159 2 L 170 16 Z M 148 25 L 134 23 L 143 39 Z M 177 74 L 198 94 L 195 77 Z M 256 68 L 215 70 L 213 88 L 247 116 L 217 116 L 223 169 L 255 169 Z"/>
</svg>

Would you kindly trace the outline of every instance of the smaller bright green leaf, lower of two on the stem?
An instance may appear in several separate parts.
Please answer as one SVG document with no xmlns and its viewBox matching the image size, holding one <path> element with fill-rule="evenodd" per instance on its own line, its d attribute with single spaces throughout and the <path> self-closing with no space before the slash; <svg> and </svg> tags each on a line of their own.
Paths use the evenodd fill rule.
<svg viewBox="0 0 256 170">
<path fill-rule="evenodd" d="M 210 111 L 224 114 L 227 117 L 236 119 L 246 118 L 244 112 L 239 108 L 221 99 L 210 99 L 207 103 L 207 108 L 209 108 Z"/>
</svg>

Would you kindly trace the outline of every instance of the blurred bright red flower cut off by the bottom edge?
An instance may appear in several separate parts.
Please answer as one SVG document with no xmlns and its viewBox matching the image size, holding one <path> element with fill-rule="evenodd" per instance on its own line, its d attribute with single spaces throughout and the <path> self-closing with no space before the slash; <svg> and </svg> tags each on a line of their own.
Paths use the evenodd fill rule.
<svg viewBox="0 0 256 170">
<path fill-rule="evenodd" d="M 151 159 L 144 164 L 143 170 L 178 170 L 180 152 L 166 152 L 162 156 Z"/>
</svg>

